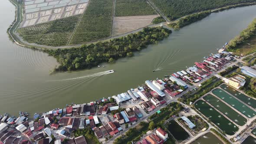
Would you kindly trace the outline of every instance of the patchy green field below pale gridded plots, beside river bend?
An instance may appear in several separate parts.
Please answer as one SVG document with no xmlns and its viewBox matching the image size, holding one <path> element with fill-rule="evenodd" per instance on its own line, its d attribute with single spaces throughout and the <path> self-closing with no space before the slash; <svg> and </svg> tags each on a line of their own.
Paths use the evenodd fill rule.
<svg viewBox="0 0 256 144">
<path fill-rule="evenodd" d="M 28 26 L 17 30 L 28 43 L 46 46 L 66 46 L 81 15 Z"/>
</svg>

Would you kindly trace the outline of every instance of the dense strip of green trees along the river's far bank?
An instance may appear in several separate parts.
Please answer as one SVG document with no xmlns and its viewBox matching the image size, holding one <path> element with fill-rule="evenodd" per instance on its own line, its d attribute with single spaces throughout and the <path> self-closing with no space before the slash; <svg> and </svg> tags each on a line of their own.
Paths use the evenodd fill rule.
<svg viewBox="0 0 256 144">
<path fill-rule="evenodd" d="M 115 62 L 116 59 L 133 56 L 132 52 L 158 43 L 170 34 L 170 29 L 146 27 L 138 33 L 111 39 L 107 42 L 98 42 L 73 49 L 45 49 L 43 51 L 55 57 L 59 62 L 59 67 L 55 68 L 54 72 L 90 69 L 102 62 Z"/>
</svg>

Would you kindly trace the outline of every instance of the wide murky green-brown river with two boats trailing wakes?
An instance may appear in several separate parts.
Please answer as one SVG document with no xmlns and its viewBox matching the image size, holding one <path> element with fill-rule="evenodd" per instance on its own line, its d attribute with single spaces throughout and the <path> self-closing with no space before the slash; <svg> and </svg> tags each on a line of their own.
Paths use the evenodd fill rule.
<svg viewBox="0 0 256 144">
<path fill-rule="evenodd" d="M 6 30 L 14 20 L 14 8 L 8 0 L 1 2 L 0 114 L 11 115 L 17 115 L 18 111 L 33 114 L 63 108 L 72 102 L 106 98 L 135 88 L 145 80 L 170 75 L 217 52 L 217 48 L 239 34 L 256 17 L 256 6 L 213 13 L 174 31 L 167 39 L 135 53 L 132 58 L 103 64 L 105 68 L 49 75 L 57 65 L 56 59 L 9 40 Z M 112 74 L 93 75 L 111 69 L 115 70 Z M 152 72 L 153 69 L 161 70 Z"/>
</svg>

